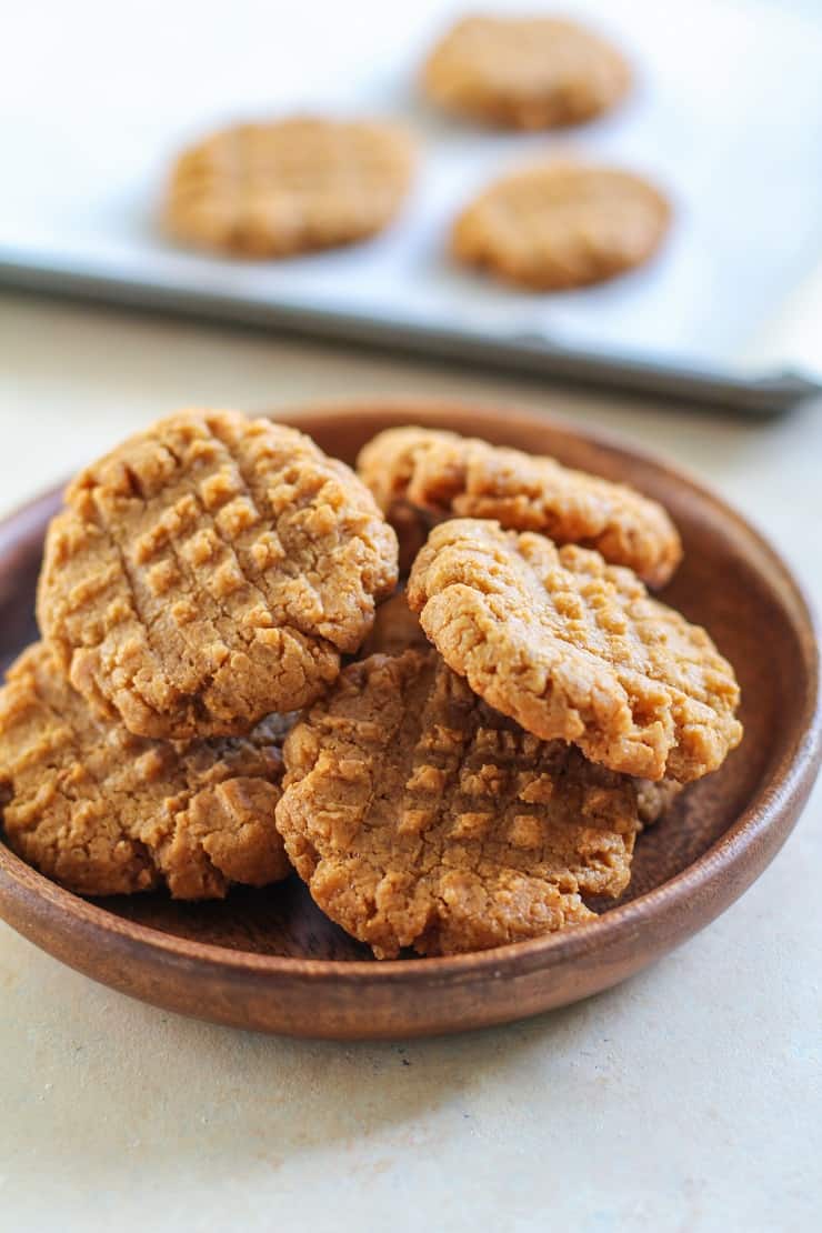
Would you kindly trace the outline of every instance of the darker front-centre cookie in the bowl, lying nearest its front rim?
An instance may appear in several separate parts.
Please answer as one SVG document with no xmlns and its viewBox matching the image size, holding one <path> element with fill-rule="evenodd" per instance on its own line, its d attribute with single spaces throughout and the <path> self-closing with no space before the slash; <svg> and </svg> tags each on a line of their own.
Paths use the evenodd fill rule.
<svg viewBox="0 0 822 1233">
<path fill-rule="evenodd" d="M 288 856 L 378 958 L 578 925 L 583 895 L 629 882 L 633 780 L 524 732 L 430 649 L 348 667 L 283 756 Z"/>
</svg>

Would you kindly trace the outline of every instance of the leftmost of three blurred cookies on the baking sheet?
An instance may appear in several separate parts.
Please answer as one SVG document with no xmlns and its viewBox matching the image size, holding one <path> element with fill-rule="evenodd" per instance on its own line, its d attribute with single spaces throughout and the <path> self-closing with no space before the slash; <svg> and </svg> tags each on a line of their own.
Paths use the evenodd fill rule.
<svg viewBox="0 0 822 1233">
<path fill-rule="evenodd" d="M 382 231 L 412 170 L 412 144 L 392 125 L 239 125 L 180 155 L 166 221 L 186 243 L 245 256 L 334 248 Z"/>
</svg>

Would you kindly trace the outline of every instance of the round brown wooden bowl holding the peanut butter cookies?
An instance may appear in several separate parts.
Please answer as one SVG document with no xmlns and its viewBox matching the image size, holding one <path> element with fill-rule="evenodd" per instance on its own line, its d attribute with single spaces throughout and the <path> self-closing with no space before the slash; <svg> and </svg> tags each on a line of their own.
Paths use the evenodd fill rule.
<svg viewBox="0 0 822 1233">
<path fill-rule="evenodd" d="M 817 644 L 776 552 L 691 480 L 612 441 L 523 412 L 433 403 L 281 416 L 352 461 L 391 424 L 473 433 L 625 480 L 663 501 L 685 560 L 665 598 L 709 628 L 742 683 L 746 737 L 637 846 L 625 898 L 598 921 L 449 959 L 377 963 L 295 878 L 182 905 L 159 894 L 86 901 L 0 843 L 0 915 L 51 954 L 158 1006 L 296 1036 L 423 1036 L 535 1015 L 616 984 L 707 925 L 774 857 L 820 763 Z M 0 656 L 36 636 L 35 583 L 52 493 L 0 525 Z"/>
</svg>

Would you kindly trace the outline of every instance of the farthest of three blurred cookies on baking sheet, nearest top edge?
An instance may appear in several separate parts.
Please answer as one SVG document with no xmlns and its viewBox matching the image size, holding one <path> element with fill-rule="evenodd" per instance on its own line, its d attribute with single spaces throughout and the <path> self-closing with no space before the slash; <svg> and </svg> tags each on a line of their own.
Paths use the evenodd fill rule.
<svg viewBox="0 0 822 1233">
<path fill-rule="evenodd" d="M 509 128 L 592 120 L 610 111 L 630 84 L 614 47 L 552 17 L 465 17 L 423 70 L 423 89 L 439 106 Z"/>
</svg>

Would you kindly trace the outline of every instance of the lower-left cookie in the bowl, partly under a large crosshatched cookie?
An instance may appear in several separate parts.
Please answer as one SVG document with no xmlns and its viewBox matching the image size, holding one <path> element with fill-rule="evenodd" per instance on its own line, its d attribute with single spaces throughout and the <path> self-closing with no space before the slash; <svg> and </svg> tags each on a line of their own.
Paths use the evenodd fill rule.
<svg viewBox="0 0 822 1233">
<path fill-rule="evenodd" d="M 83 895 L 168 885 L 177 899 L 261 887 L 290 866 L 274 825 L 279 716 L 249 737 L 174 745 L 95 716 L 42 642 L 0 689 L 10 846 Z"/>
</svg>

